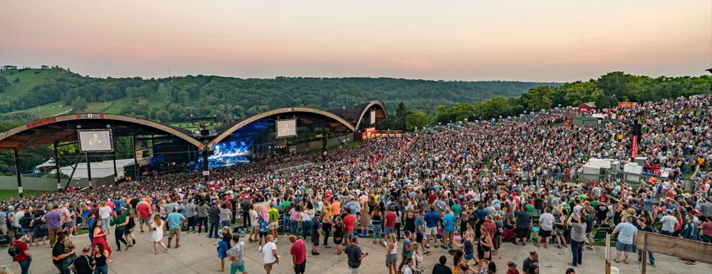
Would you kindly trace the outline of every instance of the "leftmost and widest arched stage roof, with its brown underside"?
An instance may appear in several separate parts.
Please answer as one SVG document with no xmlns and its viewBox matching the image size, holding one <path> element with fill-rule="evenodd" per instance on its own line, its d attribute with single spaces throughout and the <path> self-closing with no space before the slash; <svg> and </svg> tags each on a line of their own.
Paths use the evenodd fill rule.
<svg viewBox="0 0 712 274">
<path fill-rule="evenodd" d="M 114 136 L 170 134 L 203 149 L 190 131 L 121 114 L 67 114 L 53 116 L 0 132 L 0 151 L 78 140 L 78 129 L 112 128 Z"/>
</svg>

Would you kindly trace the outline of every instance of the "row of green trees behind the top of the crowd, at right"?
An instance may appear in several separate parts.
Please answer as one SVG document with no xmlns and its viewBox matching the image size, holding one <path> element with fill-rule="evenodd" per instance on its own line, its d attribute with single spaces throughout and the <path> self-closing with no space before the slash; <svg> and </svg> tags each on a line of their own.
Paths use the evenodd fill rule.
<svg viewBox="0 0 712 274">
<path fill-rule="evenodd" d="M 712 90 L 712 77 L 647 77 L 624 72 L 609 72 L 598 79 L 586 82 L 568 82 L 558 86 L 542 85 L 529 89 L 520 97 L 492 97 L 484 101 L 459 102 L 453 105 L 441 104 L 434 114 L 426 115 L 425 126 L 454 121 L 488 120 L 493 118 L 518 116 L 554 107 L 579 106 L 593 102 L 599 109 L 617 106 L 619 102 L 648 102 L 694 94 L 706 94 Z M 418 121 L 414 124 L 398 124 L 402 128 L 423 126 L 423 114 L 411 111 L 401 120 Z M 398 114 L 396 116 L 399 116 Z M 400 115 L 402 116 L 402 115 Z M 414 120 L 415 119 L 415 120 Z"/>
</svg>

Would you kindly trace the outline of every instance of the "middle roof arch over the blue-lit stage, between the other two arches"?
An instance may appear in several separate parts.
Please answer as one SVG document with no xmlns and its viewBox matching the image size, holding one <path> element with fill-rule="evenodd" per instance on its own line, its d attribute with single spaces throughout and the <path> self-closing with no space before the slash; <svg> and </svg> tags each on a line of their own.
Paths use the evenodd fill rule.
<svg viewBox="0 0 712 274">
<path fill-rule="evenodd" d="M 298 125 L 300 126 L 329 126 L 333 129 L 341 128 L 347 131 L 354 131 L 354 127 L 349 122 L 331 112 L 322 111 L 319 109 L 312 109 L 308 107 L 292 107 L 265 111 L 261 114 L 251 116 L 247 119 L 242 119 L 232 124 L 216 128 L 216 131 L 219 132 L 219 134 L 213 139 L 213 141 L 210 142 L 210 146 L 215 146 L 217 143 L 220 143 L 220 141 L 222 141 L 224 138 L 227 138 L 227 136 L 234 133 L 235 131 L 238 131 L 240 128 L 247 126 L 248 124 L 254 121 L 258 121 L 260 119 L 270 116 L 279 116 L 279 118 L 281 119 L 295 117 L 297 118 Z M 324 121 L 324 123 L 320 123 L 320 121 Z"/>
</svg>

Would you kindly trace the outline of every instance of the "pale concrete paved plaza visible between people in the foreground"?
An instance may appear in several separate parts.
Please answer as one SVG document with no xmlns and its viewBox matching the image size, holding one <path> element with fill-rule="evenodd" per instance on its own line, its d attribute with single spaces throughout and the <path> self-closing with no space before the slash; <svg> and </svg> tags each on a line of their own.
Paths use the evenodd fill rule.
<svg viewBox="0 0 712 274">
<path fill-rule="evenodd" d="M 187 234 L 184 232 L 181 238 L 180 248 L 171 248 L 168 252 L 154 255 L 153 246 L 150 243 L 151 234 L 147 231 L 144 234 L 135 234 L 136 245 L 128 250 L 115 251 L 112 253 L 113 262 L 109 265 L 109 273 L 216 273 L 220 268 L 220 260 L 217 258 L 217 241 L 207 239 L 205 234 Z M 246 242 L 246 269 L 248 273 L 265 273 L 262 268 L 262 254 L 257 251 L 256 243 Z M 368 240 L 368 241 L 366 241 Z M 89 243 L 87 235 L 72 238 L 78 246 L 78 253 L 81 247 Z M 115 250 L 113 235 L 108 239 L 112 250 Z M 167 237 L 164 237 L 167 241 Z M 174 243 L 175 244 L 175 243 Z M 309 245 L 309 243 L 307 243 Z M 385 268 L 385 248 L 372 243 L 370 239 L 362 238 L 360 241 L 362 249 L 369 252 L 360 268 L 360 273 L 388 273 Z M 275 265 L 272 273 L 288 274 L 293 273 L 292 261 L 289 255 L 290 243 L 285 236 L 280 236 L 277 249 L 282 258 L 280 264 Z M 400 248 L 400 246 L 399 246 Z M 349 273 L 347 258 L 345 255 L 334 254 L 335 247 L 326 249 L 319 248 L 319 256 L 310 255 L 310 246 L 307 246 L 307 270 L 306 273 Z M 506 262 L 514 261 L 520 267 L 522 261 L 528 256 L 530 250 L 535 249 L 540 253 L 541 264 L 540 273 L 563 274 L 570 266 L 567 262 L 571 259 L 569 249 L 558 249 L 550 246 L 548 249 L 537 248 L 529 243 L 527 246 L 515 246 L 513 243 L 503 243 L 499 255 L 494 258 L 497 263 L 497 273 L 506 273 Z M 442 248 L 430 248 L 431 255 L 424 256 L 426 265 L 425 274 L 430 274 L 432 266 L 437 263 L 439 256 L 448 256 L 447 265 L 452 265 L 452 256 Z M 33 274 L 53 274 L 58 273 L 51 261 L 51 250 L 48 246 L 32 246 L 33 254 L 31 273 Z M 400 251 L 399 251 L 400 252 Z M 400 259 L 400 254 L 399 254 Z M 712 273 L 711 265 L 698 263 L 697 265 L 685 265 L 684 261 L 669 256 L 656 255 L 657 268 L 648 268 L 648 273 Z M 631 257 L 630 264 L 613 263 L 619 268 L 620 273 L 640 273 L 639 264 L 636 258 Z M 6 248 L 0 250 L 0 266 L 8 266 L 14 273 L 20 273 L 17 263 L 12 262 L 8 256 Z M 226 260 L 226 273 L 229 273 L 229 261 Z M 604 248 L 597 246 L 595 251 L 584 251 L 583 265 L 576 268 L 578 274 L 600 274 L 604 273 Z"/>
</svg>

